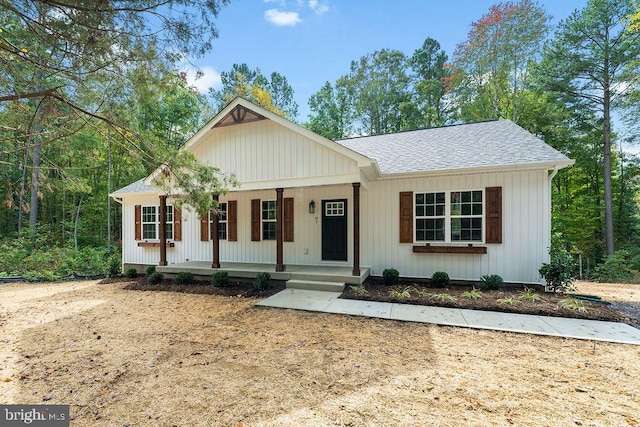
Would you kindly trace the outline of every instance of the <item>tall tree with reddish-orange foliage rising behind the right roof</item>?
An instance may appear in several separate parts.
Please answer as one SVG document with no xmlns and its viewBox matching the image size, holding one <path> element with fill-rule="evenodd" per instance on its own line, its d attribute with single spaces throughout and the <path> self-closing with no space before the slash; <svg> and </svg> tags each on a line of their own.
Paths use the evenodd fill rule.
<svg viewBox="0 0 640 427">
<path fill-rule="evenodd" d="M 471 25 L 454 52 L 453 85 L 466 121 L 517 121 L 519 91 L 540 52 L 550 17 L 532 0 L 498 3 Z"/>
</svg>

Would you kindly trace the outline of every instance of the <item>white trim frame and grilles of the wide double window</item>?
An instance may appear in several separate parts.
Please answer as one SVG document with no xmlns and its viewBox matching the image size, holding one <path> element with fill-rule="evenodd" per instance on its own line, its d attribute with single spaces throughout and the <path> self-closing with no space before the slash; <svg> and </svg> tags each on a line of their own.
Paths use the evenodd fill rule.
<svg viewBox="0 0 640 427">
<path fill-rule="evenodd" d="M 474 215 L 473 212 L 470 215 L 462 215 L 462 214 L 452 214 L 452 202 L 451 202 L 451 195 L 453 193 L 471 193 L 471 197 L 473 200 L 473 192 L 480 192 L 481 196 L 482 196 L 482 200 L 480 202 L 475 202 L 475 203 L 479 203 L 481 208 L 482 208 L 482 214 L 481 215 Z M 443 216 L 418 216 L 417 215 L 417 210 L 418 210 L 418 203 L 416 200 L 416 196 L 418 194 L 438 194 L 438 193 L 444 193 L 445 195 L 445 209 L 444 209 L 444 217 Z M 413 192 L 413 197 L 412 197 L 412 202 L 413 202 L 413 241 L 414 243 L 427 243 L 427 244 L 484 244 L 485 240 L 486 240 L 486 215 L 487 215 L 487 208 L 485 206 L 486 203 L 486 195 L 485 195 L 485 189 L 484 188 L 476 188 L 476 189 L 465 189 L 465 190 L 444 190 L 444 191 L 440 191 L 440 190 L 433 190 L 433 191 L 414 191 Z M 473 206 L 473 201 L 471 202 L 472 206 Z M 472 208 L 473 210 L 473 208 Z M 444 218 L 444 239 L 443 240 L 418 240 L 418 219 L 439 219 L 439 218 Z M 456 219 L 456 218 L 479 218 L 480 219 L 480 225 L 482 227 L 481 229 L 481 236 L 480 236 L 480 240 L 453 240 L 452 239 L 452 220 Z"/>
</svg>

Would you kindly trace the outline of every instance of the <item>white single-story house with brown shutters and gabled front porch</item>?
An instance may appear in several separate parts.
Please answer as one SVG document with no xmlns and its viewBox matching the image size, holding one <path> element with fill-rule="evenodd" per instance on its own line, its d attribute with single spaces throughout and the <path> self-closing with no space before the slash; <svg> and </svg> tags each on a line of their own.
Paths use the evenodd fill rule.
<svg viewBox="0 0 640 427">
<path fill-rule="evenodd" d="M 508 120 L 331 141 L 241 98 L 182 149 L 241 185 L 213 195 L 219 211 L 205 218 L 175 208 L 152 176 L 112 193 L 125 269 L 324 266 L 358 283 L 395 268 L 537 284 L 551 180 L 573 163 Z"/>
</svg>

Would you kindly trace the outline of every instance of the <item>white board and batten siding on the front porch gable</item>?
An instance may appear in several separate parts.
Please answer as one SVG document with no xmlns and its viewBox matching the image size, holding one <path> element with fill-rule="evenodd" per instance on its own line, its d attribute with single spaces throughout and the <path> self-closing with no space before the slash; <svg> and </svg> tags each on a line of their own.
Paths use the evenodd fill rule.
<svg viewBox="0 0 640 427">
<path fill-rule="evenodd" d="M 356 162 L 270 120 L 213 129 L 192 148 L 201 162 L 234 173 L 241 185 L 359 177 Z M 312 177 L 312 178 L 310 178 Z M 350 182 L 348 179 L 343 182 Z"/>
</svg>

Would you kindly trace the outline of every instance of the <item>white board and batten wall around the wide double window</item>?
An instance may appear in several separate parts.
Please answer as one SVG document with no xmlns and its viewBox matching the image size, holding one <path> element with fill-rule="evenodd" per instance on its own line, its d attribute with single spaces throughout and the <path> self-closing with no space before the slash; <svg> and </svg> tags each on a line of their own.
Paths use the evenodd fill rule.
<svg viewBox="0 0 640 427">
<path fill-rule="evenodd" d="M 371 267 L 376 276 L 385 268 L 396 268 L 405 277 L 446 271 L 452 279 L 499 274 L 509 282 L 540 283 L 538 269 L 548 261 L 550 236 L 547 177 L 547 171 L 523 171 L 372 182 L 361 195 L 361 265 Z M 502 187 L 503 236 L 499 244 L 477 243 L 487 247 L 486 255 L 414 253 L 413 243 L 399 243 L 401 192 L 487 187 Z"/>
</svg>

